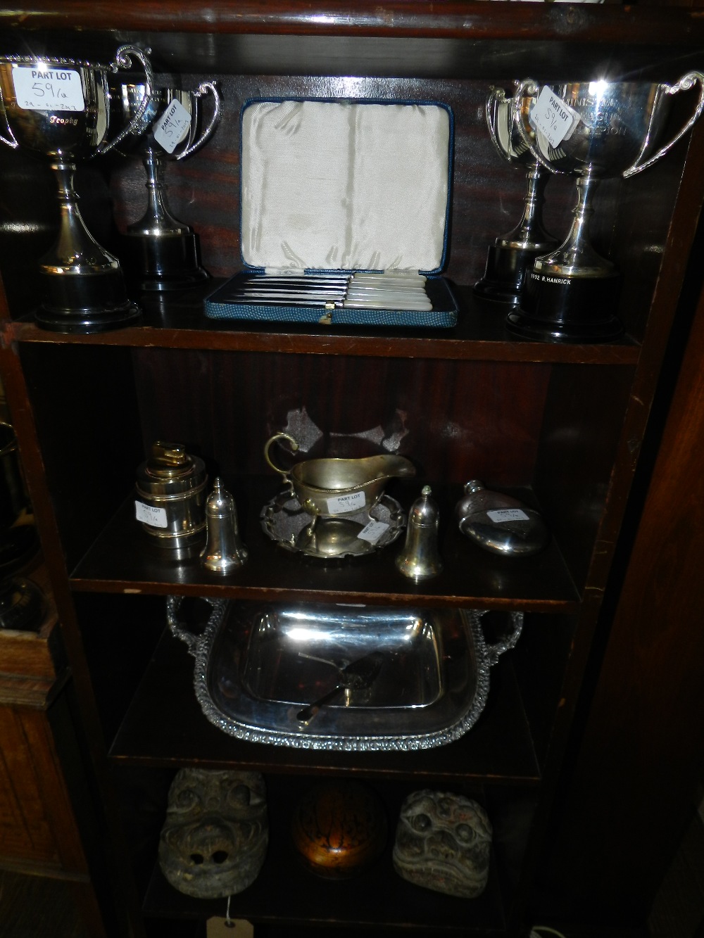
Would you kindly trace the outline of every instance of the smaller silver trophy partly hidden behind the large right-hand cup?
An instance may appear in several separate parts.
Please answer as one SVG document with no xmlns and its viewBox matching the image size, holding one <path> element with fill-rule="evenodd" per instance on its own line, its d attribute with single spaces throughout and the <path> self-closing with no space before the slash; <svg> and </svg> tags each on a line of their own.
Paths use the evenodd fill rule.
<svg viewBox="0 0 704 938">
<path fill-rule="evenodd" d="M 513 166 L 525 167 L 527 187 L 523 217 L 509 234 L 489 245 L 484 276 L 475 283 L 474 292 L 484 299 L 515 304 L 535 258 L 559 243 L 543 228 L 543 193 L 550 174 L 524 143 L 514 120 L 512 100 L 503 88 L 492 88 L 485 114 L 498 155 Z"/>
</svg>

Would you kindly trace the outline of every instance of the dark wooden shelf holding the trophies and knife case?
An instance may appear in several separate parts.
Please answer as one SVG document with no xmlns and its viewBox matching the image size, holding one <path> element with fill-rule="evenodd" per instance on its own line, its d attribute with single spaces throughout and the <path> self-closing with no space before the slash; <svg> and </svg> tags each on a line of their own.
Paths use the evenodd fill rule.
<svg viewBox="0 0 704 938">
<path fill-rule="evenodd" d="M 512 337 L 503 325 L 510 307 L 480 300 L 471 287 L 454 287 L 460 315 L 450 329 L 389 329 L 208 319 L 203 299 L 223 280 L 210 280 L 173 295 L 142 295 L 141 325 L 93 335 L 64 335 L 25 318 L 6 324 L 8 341 L 194 348 L 232 352 L 281 352 L 479 361 L 564 362 L 633 365 L 640 347 L 625 338 L 604 345 L 531 342 Z"/>
</svg>

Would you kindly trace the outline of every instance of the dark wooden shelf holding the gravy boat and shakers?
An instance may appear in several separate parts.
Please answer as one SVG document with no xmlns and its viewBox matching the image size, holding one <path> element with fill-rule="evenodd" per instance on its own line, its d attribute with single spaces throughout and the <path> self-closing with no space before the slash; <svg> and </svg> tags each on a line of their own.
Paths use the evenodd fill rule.
<svg viewBox="0 0 704 938">
<path fill-rule="evenodd" d="M 225 484 L 229 485 L 226 479 Z M 353 602 L 459 603 L 546 613 L 571 613 L 578 608 L 579 594 L 554 540 L 534 556 L 505 558 L 482 551 L 455 528 L 450 522 L 451 507 L 461 495 L 460 487 L 433 486 L 441 517 L 447 520 L 440 534 L 445 569 L 435 579 L 419 583 L 408 580 L 393 564 L 404 544 L 403 532 L 379 552 L 331 563 L 274 543 L 261 528 L 259 511 L 280 490 L 273 477 L 237 479 L 230 489 L 236 495 L 240 536 L 249 558 L 244 567 L 225 577 L 208 573 L 197 557 L 177 562 L 153 543 L 135 521 L 134 496 L 129 495 L 73 570 L 71 588 L 268 601 L 329 600 L 344 595 Z M 418 496 L 420 483 L 412 489 L 398 483 L 387 491 L 407 509 Z M 528 504 L 534 501 L 529 493 L 518 494 Z"/>
</svg>

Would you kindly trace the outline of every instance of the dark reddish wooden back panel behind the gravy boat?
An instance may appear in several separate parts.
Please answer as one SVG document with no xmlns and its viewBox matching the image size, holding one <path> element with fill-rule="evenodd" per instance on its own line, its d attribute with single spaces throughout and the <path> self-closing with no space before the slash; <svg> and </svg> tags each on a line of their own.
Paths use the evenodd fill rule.
<svg viewBox="0 0 704 938">
<path fill-rule="evenodd" d="M 213 472 L 270 472 L 291 431 L 305 458 L 399 452 L 419 480 L 528 485 L 550 366 L 135 350 L 145 449 L 192 447 Z M 287 464 L 282 449 L 275 460 Z M 292 460 L 288 460 L 290 463 Z"/>
</svg>

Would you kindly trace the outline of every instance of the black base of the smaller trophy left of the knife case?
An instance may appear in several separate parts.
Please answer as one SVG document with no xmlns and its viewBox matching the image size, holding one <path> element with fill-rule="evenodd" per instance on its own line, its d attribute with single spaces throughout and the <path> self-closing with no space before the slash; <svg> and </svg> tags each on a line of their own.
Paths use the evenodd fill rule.
<svg viewBox="0 0 704 938">
<path fill-rule="evenodd" d="M 184 290 L 209 278 L 200 265 L 197 235 L 130 234 L 124 237 L 125 264 L 140 290 Z"/>
</svg>

